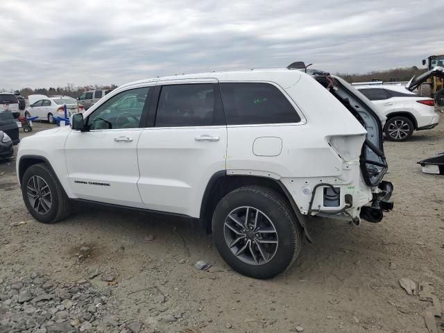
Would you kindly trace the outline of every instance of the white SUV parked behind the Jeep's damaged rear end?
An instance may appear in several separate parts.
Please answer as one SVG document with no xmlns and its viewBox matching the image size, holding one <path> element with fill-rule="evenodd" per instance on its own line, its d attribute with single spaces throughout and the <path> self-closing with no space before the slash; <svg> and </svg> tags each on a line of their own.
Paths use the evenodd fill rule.
<svg viewBox="0 0 444 333">
<path fill-rule="evenodd" d="M 414 130 L 428 130 L 438 125 L 435 102 L 420 97 L 400 85 L 368 85 L 356 87 L 387 117 L 384 133 L 387 139 L 405 141 Z"/>
</svg>

